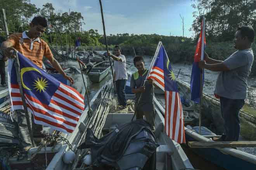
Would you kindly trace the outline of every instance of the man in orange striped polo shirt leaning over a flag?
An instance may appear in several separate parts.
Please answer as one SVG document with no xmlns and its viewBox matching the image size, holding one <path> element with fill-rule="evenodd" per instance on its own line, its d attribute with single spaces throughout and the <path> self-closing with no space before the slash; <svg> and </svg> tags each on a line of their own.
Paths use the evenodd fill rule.
<svg viewBox="0 0 256 170">
<path fill-rule="evenodd" d="M 69 80 L 72 84 L 74 83 L 73 78 L 67 76 L 66 73 L 62 70 L 58 61 L 54 58 L 48 44 L 40 38 L 40 36 L 47 29 L 47 20 L 44 17 L 36 16 L 29 24 L 29 31 L 24 31 L 22 33 L 12 34 L 4 41 L 1 45 L 1 49 L 6 57 L 13 57 L 13 51 L 16 49 L 22 53 L 26 58 L 30 59 L 38 67 L 43 67 L 43 56 L 45 56 L 52 66 L 61 73 L 64 78 Z M 33 122 L 33 121 L 32 121 Z M 26 125 L 25 115 L 22 112 L 19 112 L 18 116 L 19 124 L 19 134 L 22 139 L 22 145 L 24 147 L 30 146 L 31 141 L 28 134 L 28 127 Z M 41 131 L 43 130 L 42 125 L 33 124 L 34 137 L 42 137 Z M 34 138 L 35 139 L 35 138 Z"/>
</svg>

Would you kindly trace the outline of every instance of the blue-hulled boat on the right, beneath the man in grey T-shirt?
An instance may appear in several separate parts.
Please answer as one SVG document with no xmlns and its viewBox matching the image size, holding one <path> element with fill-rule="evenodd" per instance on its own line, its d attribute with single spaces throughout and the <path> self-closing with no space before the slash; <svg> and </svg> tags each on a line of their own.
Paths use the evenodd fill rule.
<svg viewBox="0 0 256 170">
<path fill-rule="evenodd" d="M 189 85 L 176 79 L 183 104 L 183 114 L 185 121 L 186 143 L 192 141 L 213 142 L 212 137 L 218 137 L 224 131 L 223 119 L 221 117 L 220 102 L 205 93 L 202 97 L 202 126 L 199 134 L 199 106 L 192 102 Z M 163 96 L 156 95 L 157 105 L 164 106 Z M 164 111 L 164 110 L 162 110 Z M 255 141 L 256 119 L 243 110 L 240 111 L 241 140 L 249 139 Z M 253 138 L 254 137 L 254 138 Z M 251 138 L 251 139 L 250 139 Z M 239 140 L 240 140 L 239 139 Z M 189 146 L 189 145 L 188 145 Z M 255 170 L 256 169 L 256 148 L 239 147 L 198 147 L 190 148 L 194 153 L 202 158 L 225 168 L 226 170 Z"/>
</svg>

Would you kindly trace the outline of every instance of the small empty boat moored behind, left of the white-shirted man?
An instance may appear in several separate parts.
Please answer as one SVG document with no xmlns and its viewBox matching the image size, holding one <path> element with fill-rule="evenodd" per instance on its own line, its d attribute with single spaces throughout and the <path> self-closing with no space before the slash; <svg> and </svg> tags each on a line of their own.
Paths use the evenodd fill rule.
<svg viewBox="0 0 256 170">
<path fill-rule="evenodd" d="M 109 61 L 102 61 L 93 66 L 88 76 L 93 83 L 99 83 L 105 78 L 110 71 Z"/>
</svg>

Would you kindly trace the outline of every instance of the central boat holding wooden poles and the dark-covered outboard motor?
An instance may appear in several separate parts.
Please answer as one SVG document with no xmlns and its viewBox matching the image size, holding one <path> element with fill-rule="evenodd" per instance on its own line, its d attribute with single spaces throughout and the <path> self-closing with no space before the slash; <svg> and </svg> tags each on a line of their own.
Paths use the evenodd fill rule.
<svg viewBox="0 0 256 170">
<path fill-rule="evenodd" d="M 93 99 L 91 100 L 91 105 L 97 105 L 99 101 L 102 101 L 105 104 L 109 104 L 111 100 L 114 99 L 114 96 L 109 95 L 102 95 L 102 91 L 104 89 L 109 89 L 111 87 L 111 90 L 113 93 L 113 86 L 112 82 L 107 82 L 100 90 L 95 94 Z M 128 89 L 129 86 L 126 85 L 126 89 Z M 129 91 L 129 90 L 128 90 Z M 105 96 L 105 97 L 104 97 Z M 134 94 L 129 94 L 128 99 L 134 99 Z M 105 101 L 104 101 L 105 100 Z M 111 104 L 111 103 L 110 103 Z M 115 105 L 114 102 L 112 104 Z M 98 106 L 99 107 L 99 106 Z M 160 107 L 160 106 L 159 106 Z M 133 117 L 133 113 L 116 113 L 112 112 L 112 109 L 109 109 L 109 105 L 107 106 L 108 113 L 105 112 L 104 116 L 102 116 L 101 120 L 101 126 L 102 126 L 102 132 L 108 133 L 109 131 L 114 130 L 119 125 L 125 124 L 127 122 L 131 121 L 131 118 Z M 97 109 L 97 107 L 96 107 Z M 98 108 L 99 109 L 99 108 Z M 90 122 L 90 115 L 87 114 L 88 107 L 85 109 L 85 114 L 83 114 L 83 117 L 80 118 L 80 124 L 76 127 L 73 134 L 70 136 L 67 136 L 67 139 L 69 140 L 69 143 L 74 148 L 78 148 L 79 145 L 81 145 L 82 141 L 84 140 L 85 136 L 85 129 L 87 129 L 88 122 Z M 99 117 L 98 117 L 99 119 Z M 156 141 L 159 144 L 159 147 L 156 149 L 156 169 L 157 170 L 181 170 L 181 169 L 194 169 L 192 164 L 190 163 L 189 159 L 185 155 L 182 147 L 180 144 L 176 143 L 175 141 L 171 140 L 166 133 L 164 132 L 164 117 L 163 113 L 161 112 L 161 109 L 156 108 Z M 98 122 L 99 123 L 99 122 Z M 114 127 L 114 129 L 113 129 Z M 100 138 L 103 136 L 100 130 L 94 131 L 94 135 L 97 138 Z M 53 170 L 53 169 L 62 169 L 62 170 L 81 170 L 86 169 L 85 163 L 83 163 L 84 157 L 90 152 L 88 149 L 84 150 L 77 150 L 76 151 L 76 159 L 74 163 L 68 165 L 65 164 L 63 161 L 63 157 L 65 157 L 65 154 L 69 150 L 69 146 L 62 146 L 62 149 L 55 154 L 55 156 L 52 158 L 52 161 L 47 167 L 47 170 Z M 129 164 L 131 164 L 130 162 Z"/>
</svg>

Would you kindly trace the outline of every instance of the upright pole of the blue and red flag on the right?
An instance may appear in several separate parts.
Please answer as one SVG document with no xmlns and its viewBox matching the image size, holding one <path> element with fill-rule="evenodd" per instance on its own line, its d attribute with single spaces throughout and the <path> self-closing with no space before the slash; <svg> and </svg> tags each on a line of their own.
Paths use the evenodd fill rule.
<svg viewBox="0 0 256 170">
<path fill-rule="evenodd" d="M 202 46 L 201 46 L 201 61 L 204 60 L 204 31 L 205 31 L 205 17 L 202 17 Z M 199 134 L 201 134 L 201 123 L 202 123 L 202 93 L 203 93 L 203 76 L 204 69 L 201 70 L 200 74 L 200 102 L 199 102 Z"/>
</svg>

